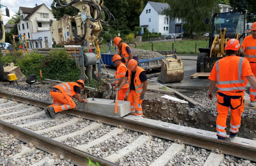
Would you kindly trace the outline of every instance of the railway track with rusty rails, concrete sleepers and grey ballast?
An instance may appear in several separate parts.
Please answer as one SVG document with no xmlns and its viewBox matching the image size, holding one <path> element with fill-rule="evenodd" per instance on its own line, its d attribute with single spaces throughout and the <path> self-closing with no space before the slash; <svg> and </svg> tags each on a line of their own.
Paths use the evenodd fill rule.
<svg viewBox="0 0 256 166">
<path fill-rule="evenodd" d="M 253 140 L 221 141 L 209 131 L 77 108 L 51 119 L 43 110 L 50 102 L 0 97 L 2 165 L 255 165 Z"/>
</svg>

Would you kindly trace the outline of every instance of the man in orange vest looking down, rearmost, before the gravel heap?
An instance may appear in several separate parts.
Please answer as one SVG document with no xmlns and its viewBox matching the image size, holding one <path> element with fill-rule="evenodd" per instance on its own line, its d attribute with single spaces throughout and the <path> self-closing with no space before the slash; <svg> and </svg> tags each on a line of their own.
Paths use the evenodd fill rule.
<svg viewBox="0 0 256 166">
<path fill-rule="evenodd" d="M 114 45 L 118 47 L 118 52 L 122 58 L 122 62 L 127 67 L 129 60 L 132 59 L 132 52 L 131 48 L 126 43 L 123 43 L 121 40 L 121 38 L 115 37 Z"/>
</svg>

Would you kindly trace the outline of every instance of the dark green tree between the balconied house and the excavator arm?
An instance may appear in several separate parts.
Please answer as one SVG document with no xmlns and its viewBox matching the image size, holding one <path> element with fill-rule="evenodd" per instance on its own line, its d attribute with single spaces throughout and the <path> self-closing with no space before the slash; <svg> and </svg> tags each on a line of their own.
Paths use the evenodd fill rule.
<svg viewBox="0 0 256 166">
<path fill-rule="evenodd" d="M 75 16 L 77 15 L 77 11 L 73 9 L 71 6 L 69 7 L 61 7 L 57 0 L 53 0 L 53 3 L 51 4 L 53 16 L 56 20 L 60 20 L 65 14 L 68 16 Z"/>
</svg>

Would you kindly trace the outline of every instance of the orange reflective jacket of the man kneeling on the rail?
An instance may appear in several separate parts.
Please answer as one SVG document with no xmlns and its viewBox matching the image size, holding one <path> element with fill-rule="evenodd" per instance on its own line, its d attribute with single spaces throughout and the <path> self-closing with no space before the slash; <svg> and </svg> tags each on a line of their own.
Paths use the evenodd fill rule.
<svg viewBox="0 0 256 166">
<path fill-rule="evenodd" d="M 76 82 L 64 82 L 62 84 L 55 85 L 54 88 L 60 89 L 65 97 L 72 97 L 76 94 L 74 91 L 74 86 L 79 87 Z"/>
</svg>

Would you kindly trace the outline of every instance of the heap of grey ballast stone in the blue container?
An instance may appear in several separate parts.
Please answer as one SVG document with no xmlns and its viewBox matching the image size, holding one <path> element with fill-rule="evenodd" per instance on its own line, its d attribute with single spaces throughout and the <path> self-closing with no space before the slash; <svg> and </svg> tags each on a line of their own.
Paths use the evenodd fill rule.
<svg viewBox="0 0 256 166">
<path fill-rule="evenodd" d="M 157 58 L 157 57 L 163 56 L 158 52 L 143 50 L 138 48 L 131 48 L 131 52 L 132 52 L 132 55 L 138 56 L 139 59 L 149 59 L 149 58 Z M 110 54 L 118 54 L 118 49 L 116 51 L 110 52 Z"/>
</svg>

